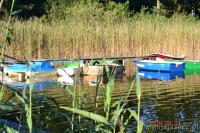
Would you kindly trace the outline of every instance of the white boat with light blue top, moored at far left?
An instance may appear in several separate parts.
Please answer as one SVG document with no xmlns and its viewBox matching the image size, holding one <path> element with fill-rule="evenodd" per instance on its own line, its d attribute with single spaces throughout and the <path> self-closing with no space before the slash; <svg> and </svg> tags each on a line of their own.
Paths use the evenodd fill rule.
<svg viewBox="0 0 200 133">
<path fill-rule="evenodd" d="M 30 76 L 35 75 L 57 75 L 57 69 L 49 62 L 30 62 L 29 64 L 13 64 L 5 66 L 3 73 L 8 77 L 18 77 L 19 81 L 26 80 Z"/>
</svg>

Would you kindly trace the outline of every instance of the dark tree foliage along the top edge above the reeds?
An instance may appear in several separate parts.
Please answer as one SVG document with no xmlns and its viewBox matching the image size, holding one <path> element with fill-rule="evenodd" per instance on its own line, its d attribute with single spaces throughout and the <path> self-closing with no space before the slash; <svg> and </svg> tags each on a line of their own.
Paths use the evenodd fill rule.
<svg viewBox="0 0 200 133">
<path fill-rule="evenodd" d="M 156 9 L 158 1 L 160 9 Z M 4 0 L 3 8 L 6 13 L 9 13 L 11 2 L 12 0 Z M 99 4 L 105 11 L 110 10 L 121 15 L 127 15 L 127 11 L 141 12 L 145 8 L 145 12 L 155 13 L 156 9 L 167 16 L 174 13 L 200 16 L 200 0 L 16 0 L 14 10 L 21 18 L 47 15 L 62 19 L 69 13 L 71 6 L 88 3 Z"/>
</svg>

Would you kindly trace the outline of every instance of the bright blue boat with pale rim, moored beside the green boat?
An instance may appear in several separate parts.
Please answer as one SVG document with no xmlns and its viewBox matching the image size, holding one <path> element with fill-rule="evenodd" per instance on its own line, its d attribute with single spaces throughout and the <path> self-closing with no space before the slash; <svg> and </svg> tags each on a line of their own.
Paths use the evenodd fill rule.
<svg viewBox="0 0 200 133">
<path fill-rule="evenodd" d="M 150 71 L 165 71 L 175 72 L 183 71 L 185 64 L 183 62 L 166 62 L 166 61 L 154 61 L 154 60 L 142 60 L 134 62 L 138 70 L 150 70 Z"/>
</svg>

